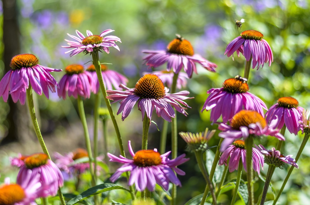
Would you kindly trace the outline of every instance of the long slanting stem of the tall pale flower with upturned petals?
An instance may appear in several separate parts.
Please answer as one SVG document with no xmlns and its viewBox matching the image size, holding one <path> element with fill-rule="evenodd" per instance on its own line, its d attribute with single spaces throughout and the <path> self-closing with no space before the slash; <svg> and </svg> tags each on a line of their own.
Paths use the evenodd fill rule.
<svg viewBox="0 0 310 205">
<path fill-rule="evenodd" d="M 100 84 L 100 89 L 101 89 L 102 94 L 103 94 L 104 102 L 107 105 L 108 111 L 109 111 L 110 116 L 111 116 L 111 120 L 112 120 L 113 125 L 114 125 L 114 129 L 115 129 L 115 132 L 116 132 L 116 136 L 117 136 L 118 145 L 119 145 L 119 149 L 120 149 L 121 155 L 123 157 L 126 157 L 125 151 L 124 151 L 124 147 L 123 147 L 123 141 L 122 141 L 121 133 L 119 131 L 119 128 L 118 128 L 118 125 L 117 125 L 117 121 L 116 121 L 116 118 L 114 116 L 113 109 L 111 107 L 111 103 L 110 103 L 109 99 L 107 98 L 108 94 L 107 94 L 107 90 L 105 89 L 103 78 L 102 78 L 101 64 L 100 64 L 100 61 L 99 61 L 99 54 L 98 54 L 98 52 L 92 52 L 91 56 L 93 58 L 93 64 L 94 64 L 95 69 L 96 69 L 96 73 L 97 73 L 98 81 L 99 81 L 99 84 Z M 128 172 L 126 172 L 126 176 L 127 176 L 127 179 L 128 179 L 129 178 L 129 173 Z M 135 190 L 134 190 L 132 185 L 129 186 L 129 189 L 130 189 L 131 198 L 132 198 L 132 200 L 134 200 L 135 199 Z"/>
</svg>

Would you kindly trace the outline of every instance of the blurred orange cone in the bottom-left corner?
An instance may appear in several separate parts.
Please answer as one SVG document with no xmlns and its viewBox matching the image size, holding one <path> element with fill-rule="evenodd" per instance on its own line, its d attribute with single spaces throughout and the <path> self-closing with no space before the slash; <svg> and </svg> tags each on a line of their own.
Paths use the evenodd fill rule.
<svg viewBox="0 0 310 205">
<path fill-rule="evenodd" d="M 6 184 L 0 187 L 0 204 L 12 205 L 25 198 L 24 189 L 18 184 Z"/>
</svg>

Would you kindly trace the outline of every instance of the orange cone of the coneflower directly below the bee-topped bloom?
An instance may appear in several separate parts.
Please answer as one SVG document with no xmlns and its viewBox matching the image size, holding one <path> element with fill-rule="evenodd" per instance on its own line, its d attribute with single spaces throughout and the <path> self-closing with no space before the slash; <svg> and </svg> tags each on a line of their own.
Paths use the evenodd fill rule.
<svg viewBox="0 0 310 205">
<path fill-rule="evenodd" d="M 232 117 L 230 125 L 234 129 L 239 129 L 241 126 L 248 127 L 252 123 L 259 123 L 262 128 L 267 126 L 267 122 L 263 116 L 253 110 L 241 110 Z"/>
</svg>

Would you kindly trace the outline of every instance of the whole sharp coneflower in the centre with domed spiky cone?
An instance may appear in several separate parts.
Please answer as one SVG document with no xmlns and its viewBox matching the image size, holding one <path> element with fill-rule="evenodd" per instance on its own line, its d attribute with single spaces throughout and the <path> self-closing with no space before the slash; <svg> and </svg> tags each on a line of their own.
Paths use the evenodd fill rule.
<svg viewBox="0 0 310 205">
<path fill-rule="evenodd" d="M 146 74 L 136 83 L 134 89 L 127 88 L 124 85 L 120 85 L 125 91 L 107 90 L 110 100 L 121 100 L 121 106 L 117 111 L 117 115 L 122 113 L 122 120 L 129 115 L 131 109 L 135 103 L 138 102 L 138 108 L 142 112 L 142 121 L 144 119 L 144 113 L 151 119 L 153 110 L 156 110 L 158 117 L 162 117 L 164 120 L 171 122 L 171 117 L 175 117 L 176 111 L 186 116 L 185 107 L 180 104 L 189 107 L 183 100 L 189 99 L 185 97 L 189 94 L 188 91 L 181 91 L 174 94 L 169 94 L 169 89 L 165 88 L 162 80 L 157 75 Z M 180 103 L 180 104 L 179 104 Z"/>
</svg>

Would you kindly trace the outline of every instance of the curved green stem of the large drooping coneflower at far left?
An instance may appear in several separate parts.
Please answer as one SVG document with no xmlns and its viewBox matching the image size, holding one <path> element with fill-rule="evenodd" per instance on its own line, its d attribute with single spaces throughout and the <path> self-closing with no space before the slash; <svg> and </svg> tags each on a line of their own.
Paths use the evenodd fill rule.
<svg viewBox="0 0 310 205">
<path fill-rule="evenodd" d="M 36 133 L 39 143 L 42 147 L 43 152 L 48 156 L 49 159 L 51 159 L 50 154 L 48 153 L 47 147 L 44 143 L 40 128 L 39 128 L 39 124 L 38 124 L 38 120 L 37 120 L 37 116 L 36 116 L 36 111 L 34 109 L 34 104 L 33 104 L 33 94 L 32 94 L 32 86 L 31 83 L 29 81 L 29 88 L 26 89 L 26 98 L 27 98 L 27 102 L 28 102 L 28 108 L 29 108 L 29 114 L 30 114 L 30 118 L 33 124 L 33 128 L 34 128 L 34 132 Z M 64 196 L 62 195 L 61 189 L 60 187 L 58 188 L 58 195 L 60 198 L 60 202 L 62 205 L 66 205 L 66 202 L 64 201 Z"/>
</svg>

